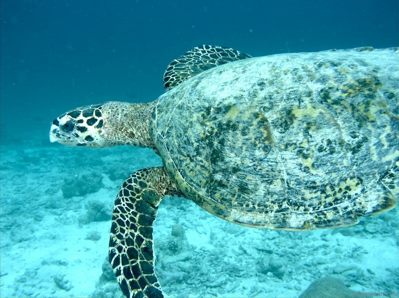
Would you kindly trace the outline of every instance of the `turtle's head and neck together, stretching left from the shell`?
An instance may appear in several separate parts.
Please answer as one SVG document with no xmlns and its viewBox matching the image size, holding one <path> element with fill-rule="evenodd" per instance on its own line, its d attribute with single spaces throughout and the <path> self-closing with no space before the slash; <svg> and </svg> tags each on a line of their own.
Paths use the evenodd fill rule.
<svg viewBox="0 0 399 298">
<path fill-rule="evenodd" d="M 93 148 L 154 148 L 149 133 L 153 103 L 106 102 L 71 110 L 51 123 L 50 142 Z"/>
</svg>

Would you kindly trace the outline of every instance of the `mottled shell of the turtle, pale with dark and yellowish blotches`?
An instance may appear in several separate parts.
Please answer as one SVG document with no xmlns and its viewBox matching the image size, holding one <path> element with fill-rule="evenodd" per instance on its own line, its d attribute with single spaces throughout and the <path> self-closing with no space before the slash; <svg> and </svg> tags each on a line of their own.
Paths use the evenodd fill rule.
<svg viewBox="0 0 399 298">
<path fill-rule="evenodd" d="M 151 135 L 184 195 L 216 216 L 355 224 L 396 205 L 398 59 L 361 48 L 220 65 L 157 100 Z"/>
</svg>

